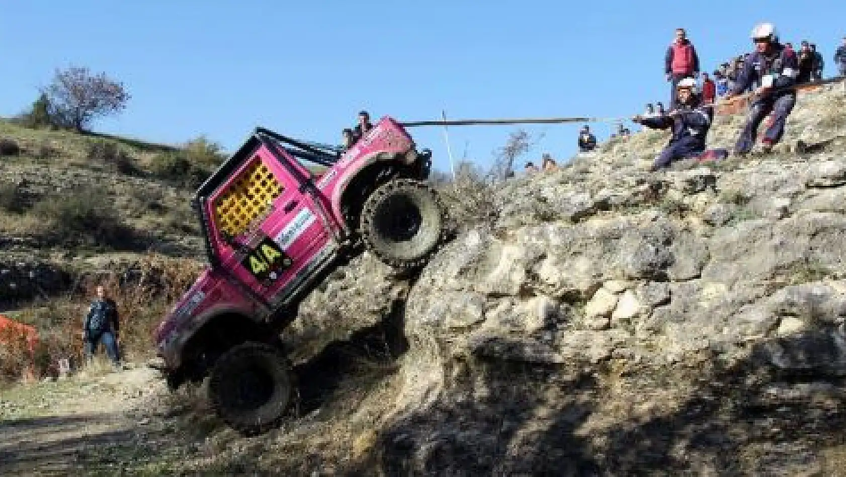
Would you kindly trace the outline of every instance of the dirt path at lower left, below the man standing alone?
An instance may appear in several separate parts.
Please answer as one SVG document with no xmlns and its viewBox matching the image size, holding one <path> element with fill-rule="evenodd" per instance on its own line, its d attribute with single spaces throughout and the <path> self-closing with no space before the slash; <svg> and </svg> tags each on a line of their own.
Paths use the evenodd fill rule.
<svg viewBox="0 0 846 477">
<path fill-rule="evenodd" d="M 164 392 L 144 367 L 0 392 L 0 475 L 155 473 L 173 441 L 153 419 Z"/>
</svg>

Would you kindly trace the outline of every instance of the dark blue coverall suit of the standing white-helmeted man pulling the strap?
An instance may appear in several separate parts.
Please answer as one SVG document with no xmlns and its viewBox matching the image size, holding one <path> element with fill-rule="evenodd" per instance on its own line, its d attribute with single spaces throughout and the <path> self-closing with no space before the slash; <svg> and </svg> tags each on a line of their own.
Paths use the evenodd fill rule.
<svg viewBox="0 0 846 477">
<path fill-rule="evenodd" d="M 799 75 L 799 62 L 796 53 L 788 50 L 779 43 L 771 47 L 771 52 L 761 54 L 754 52 L 743 64 L 734 89 L 734 95 L 739 95 L 753 81 L 759 85 L 766 85 L 772 81 L 772 93 L 756 99 L 750 105 L 746 125 L 740 133 L 734 151 L 746 153 L 755 145 L 758 126 L 770 112 L 773 112 L 772 123 L 766 126 L 764 140 L 770 145 L 776 144 L 784 134 L 784 123 L 796 104 L 796 93 L 793 90 L 779 90 L 796 84 Z"/>
</svg>

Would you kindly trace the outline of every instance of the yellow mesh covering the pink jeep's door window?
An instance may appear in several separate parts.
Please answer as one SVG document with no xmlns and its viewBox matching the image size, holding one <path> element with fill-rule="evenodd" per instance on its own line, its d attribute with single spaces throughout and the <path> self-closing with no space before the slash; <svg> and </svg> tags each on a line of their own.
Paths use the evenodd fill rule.
<svg viewBox="0 0 846 477">
<path fill-rule="evenodd" d="M 244 233 L 250 222 L 265 214 L 282 190 L 273 173 L 261 162 L 255 162 L 217 198 L 217 227 L 231 237 Z"/>
</svg>

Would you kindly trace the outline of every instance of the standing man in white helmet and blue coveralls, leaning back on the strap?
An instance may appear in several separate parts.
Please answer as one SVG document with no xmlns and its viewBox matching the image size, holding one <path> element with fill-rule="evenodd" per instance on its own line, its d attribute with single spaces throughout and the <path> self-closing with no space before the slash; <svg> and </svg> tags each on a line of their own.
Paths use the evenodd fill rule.
<svg viewBox="0 0 846 477">
<path fill-rule="evenodd" d="M 752 151 L 758 126 L 772 112 L 772 122 L 767 123 L 761 140 L 761 150 L 770 151 L 782 139 L 784 123 L 796 104 L 796 93 L 790 88 L 799 75 L 796 53 L 778 42 L 776 28 L 770 23 L 755 25 L 751 37 L 755 52 L 744 61 L 733 89 L 726 96 L 739 95 L 753 82 L 759 85 L 753 92 L 746 125 L 734 145 L 735 154 Z"/>
</svg>

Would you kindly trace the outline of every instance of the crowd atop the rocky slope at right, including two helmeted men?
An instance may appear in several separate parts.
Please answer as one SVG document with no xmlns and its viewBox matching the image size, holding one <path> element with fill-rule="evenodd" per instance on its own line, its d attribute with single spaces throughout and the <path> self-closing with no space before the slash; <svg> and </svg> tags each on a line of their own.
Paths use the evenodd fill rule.
<svg viewBox="0 0 846 477">
<path fill-rule="evenodd" d="M 706 136 L 711 127 L 713 106 L 718 100 L 750 93 L 750 112 L 741 130 L 733 154 L 744 156 L 755 148 L 758 127 L 765 118 L 766 128 L 758 151 L 768 152 L 781 140 L 786 119 L 796 102 L 794 85 L 813 83 L 822 79 L 825 62 L 816 45 L 801 41 L 799 51 L 791 43 L 779 41 L 774 25 L 755 25 L 750 35 L 755 48 L 722 63 L 713 71 L 713 78 L 701 72 L 699 55 L 687 32 L 675 30 L 675 38 L 667 47 L 664 74 L 670 84 L 667 110 L 661 102 L 649 103 L 645 112 L 632 118 L 651 129 L 671 129 L 673 135 L 661 155 L 656 157 L 652 170 L 667 167 L 673 161 L 687 157 L 720 159 L 728 150 L 706 150 Z M 846 77 L 846 36 L 834 53 L 838 74 Z M 622 124 L 612 137 L 626 137 Z M 596 138 L 585 126 L 579 135 L 579 151 L 592 151 Z"/>
</svg>

